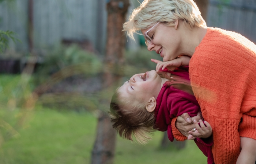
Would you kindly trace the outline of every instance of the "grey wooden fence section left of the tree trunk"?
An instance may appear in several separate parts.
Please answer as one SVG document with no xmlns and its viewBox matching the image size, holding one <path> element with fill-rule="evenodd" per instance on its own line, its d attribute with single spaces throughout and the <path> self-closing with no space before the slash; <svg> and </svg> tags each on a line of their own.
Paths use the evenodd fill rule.
<svg viewBox="0 0 256 164">
<path fill-rule="evenodd" d="M 22 44 L 15 47 L 27 51 L 28 45 L 28 0 L 15 0 L 0 4 L 0 29 L 18 34 Z M 106 12 L 100 8 L 102 0 L 33 0 L 33 44 L 35 50 L 43 51 L 59 44 L 62 39 L 90 40 L 97 47 L 103 44 L 106 33 Z M 99 15 L 101 14 L 101 15 Z M 104 17 L 105 15 L 105 17 Z M 101 21 L 99 21 L 101 19 Z M 103 32 L 99 32 L 102 30 Z"/>
</svg>

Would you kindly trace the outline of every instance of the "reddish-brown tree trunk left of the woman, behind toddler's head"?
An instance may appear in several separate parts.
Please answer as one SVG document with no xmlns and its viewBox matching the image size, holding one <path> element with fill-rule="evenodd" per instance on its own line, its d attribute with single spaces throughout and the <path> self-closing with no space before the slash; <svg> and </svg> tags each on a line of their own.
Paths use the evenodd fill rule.
<svg viewBox="0 0 256 164">
<path fill-rule="evenodd" d="M 108 68 L 123 65 L 125 50 L 125 33 L 123 23 L 129 6 L 129 0 L 107 0 L 108 25 L 105 57 L 105 73 L 103 75 L 103 87 L 108 87 L 120 77 L 114 75 Z M 109 102 L 110 104 L 110 102 Z M 98 118 L 97 137 L 91 156 L 91 164 L 112 164 L 116 146 L 116 130 L 108 116 Z"/>
</svg>

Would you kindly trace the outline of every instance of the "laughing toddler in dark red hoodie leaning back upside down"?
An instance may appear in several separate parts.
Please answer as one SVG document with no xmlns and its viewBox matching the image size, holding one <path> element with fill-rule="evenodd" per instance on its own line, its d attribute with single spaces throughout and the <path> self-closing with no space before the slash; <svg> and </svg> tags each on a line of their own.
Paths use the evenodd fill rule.
<svg viewBox="0 0 256 164">
<path fill-rule="evenodd" d="M 165 71 L 160 73 L 165 78 L 161 78 L 155 70 L 135 74 L 116 90 L 109 115 L 113 128 L 121 137 L 132 140 L 134 136 L 144 144 L 150 139 L 148 134 L 155 129 L 167 130 L 169 140 L 173 141 L 172 126 L 175 125 L 171 124 L 172 118 L 185 112 L 194 117 L 200 112 L 190 86 L 188 66 Z M 200 120 L 192 131 L 197 134 L 194 141 L 208 157 L 208 164 L 214 163 L 210 124 Z"/>
</svg>

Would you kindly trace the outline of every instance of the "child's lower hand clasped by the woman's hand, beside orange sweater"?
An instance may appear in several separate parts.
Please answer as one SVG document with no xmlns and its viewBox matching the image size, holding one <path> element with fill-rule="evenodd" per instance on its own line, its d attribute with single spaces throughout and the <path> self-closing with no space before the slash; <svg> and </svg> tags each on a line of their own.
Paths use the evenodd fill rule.
<svg viewBox="0 0 256 164">
<path fill-rule="evenodd" d="M 202 120 L 199 120 L 199 124 L 200 126 L 198 125 L 197 121 L 194 120 L 193 121 L 195 126 L 196 126 L 196 131 L 195 132 L 191 132 L 189 131 L 189 136 L 188 136 L 188 140 L 191 140 L 191 139 L 195 139 L 195 137 L 199 137 L 199 138 L 208 138 L 211 136 L 212 134 L 212 128 L 211 128 L 211 125 L 206 122 L 206 121 L 202 121 Z M 204 125 L 206 124 L 206 126 Z"/>
</svg>

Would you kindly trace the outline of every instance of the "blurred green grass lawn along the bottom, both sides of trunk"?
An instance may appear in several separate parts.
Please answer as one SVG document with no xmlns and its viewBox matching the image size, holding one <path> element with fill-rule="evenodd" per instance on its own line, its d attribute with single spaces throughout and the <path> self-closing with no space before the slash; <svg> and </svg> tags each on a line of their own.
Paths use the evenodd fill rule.
<svg viewBox="0 0 256 164">
<path fill-rule="evenodd" d="M 20 137 L 5 141 L 1 164 L 89 164 L 97 119 L 90 113 L 35 110 Z M 204 164 L 207 159 L 193 141 L 185 149 L 160 149 L 161 132 L 147 145 L 118 138 L 115 164 Z"/>
</svg>

